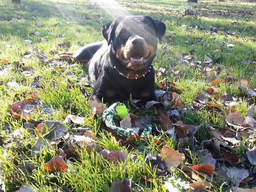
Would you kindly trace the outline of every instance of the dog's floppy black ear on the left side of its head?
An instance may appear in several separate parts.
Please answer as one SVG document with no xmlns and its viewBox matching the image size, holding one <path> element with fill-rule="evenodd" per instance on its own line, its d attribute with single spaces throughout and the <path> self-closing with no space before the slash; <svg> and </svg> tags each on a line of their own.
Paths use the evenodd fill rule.
<svg viewBox="0 0 256 192">
<path fill-rule="evenodd" d="M 113 40 L 116 27 L 121 19 L 122 17 L 117 17 L 114 21 L 108 22 L 102 26 L 102 35 L 107 40 L 108 45 L 110 45 L 111 40 Z"/>
</svg>

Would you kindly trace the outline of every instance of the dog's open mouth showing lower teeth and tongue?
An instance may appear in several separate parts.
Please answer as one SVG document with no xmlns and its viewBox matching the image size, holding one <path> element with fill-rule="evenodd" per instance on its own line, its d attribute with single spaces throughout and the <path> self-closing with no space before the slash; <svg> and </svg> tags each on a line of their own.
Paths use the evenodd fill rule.
<svg viewBox="0 0 256 192">
<path fill-rule="evenodd" d="M 123 57 L 123 62 L 127 64 L 127 68 L 132 70 L 139 70 L 142 69 L 144 65 L 148 62 L 148 56 L 142 57 L 139 54 L 134 54 L 129 59 Z"/>
</svg>

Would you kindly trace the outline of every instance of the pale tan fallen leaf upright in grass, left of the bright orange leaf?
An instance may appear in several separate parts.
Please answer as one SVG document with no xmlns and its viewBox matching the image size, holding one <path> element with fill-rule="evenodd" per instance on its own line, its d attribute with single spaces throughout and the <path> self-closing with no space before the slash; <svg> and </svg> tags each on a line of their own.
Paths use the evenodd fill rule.
<svg viewBox="0 0 256 192">
<path fill-rule="evenodd" d="M 172 172 L 172 167 L 179 166 L 182 162 L 185 162 L 185 155 L 165 145 L 161 150 L 161 157 L 164 159 L 165 166 L 169 172 Z"/>
</svg>

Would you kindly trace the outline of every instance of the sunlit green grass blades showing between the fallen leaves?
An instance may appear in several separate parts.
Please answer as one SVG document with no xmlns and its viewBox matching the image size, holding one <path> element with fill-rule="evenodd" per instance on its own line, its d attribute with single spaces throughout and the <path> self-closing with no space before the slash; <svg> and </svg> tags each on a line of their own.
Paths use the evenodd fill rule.
<svg viewBox="0 0 256 192">
<path fill-rule="evenodd" d="M 101 35 L 102 23 L 111 21 L 119 15 L 151 15 L 156 19 L 162 20 L 166 24 L 166 34 L 171 36 L 170 42 L 164 41 L 162 45 L 168 46 L 169 50 L 161 49 L 155 58 L 155 69 L 165 66 L 167 69 L 175 68 L 177 65 L 180 73 L 184 76 L 176 79 L 171 70 L 168 71 L 167 79 L 176 83 L 176 92 L 181 94 L 182 102 L 189 109 L 191 102 L 195 101 L 201 91 L 210 87 L 207 76 L 202 75 L 199 69 L 188 68 L 184 64 L 179 64 L 178 52 L 189 53 L 194 50 L 194 57 L 203 63 L 204 55 L 208 55 L 215 60 L 218 57 L 219 66 L 222 71 L 217 75 L 224 79 L 226 75 L 233 75 L 238 80 L 248 80 L 249 85 L 256 86 L 256 65 L 240 63 L 242 59 L 256 60 L 256 16 L 244 14 L 244 4 L 233 2 L 217 2 L 201 0 L 198 4 L 188 4 L 184 0 L 119 0 L 116 4 L 107 4 L 107 1 L 91 0 L 21 0 L 21 4 L 11 4 L 10 0 L 0 1 L 0 16 L 5 17 L 6 21 L 0 21 L 0 60 L 8 60 L 7 73 L 0 75 L 0 82 L 15 81 L 19 86 L 0 90 L 0 162 L 1 178 L 5 181 L 8 191 L 15 191 L 20 188 L 22 183 L 33 184 L 38 191 L 52 191 L 53 188 L 59 188 L 60 191 L 65 187 L 75 191 L 106 191 L 112 186 L 114 177 L 119 180 L 132 178 L 133 188 L 138 191 L 165 191 L 164 181 L 173 183 L 178 188 L 187 190 L 188 180 L 180 174 L 174 172 L 167 176 L 157 177 L 150 167 L 145 167 L 144 159 L 148 153 L 158 155 L 161 151 L 154 143 L 159 139 L 163 144 L 178 149 L 179 143 L 173 138 L 160 134 L 153 139 L 145 139 L 144 142 L 132 142 L 128 146 L 122 146 L 120 143 L 113 143 L 112 137 L 106 131 L 100 129 L 101 119 L 96 118 L 87 120 L 83 126 L 90 128 L 97 135 L 97 141 L 103 148 L 109 150 L 121 150 L 129 153 L 126 169 L 125 164 L 119 165 L 104 164 L 94 153 L 80 153 L 80 160 L 68 161 L 68 172 L 58 172 L 55 174 L 58 182 L 48 180 L 49 175 L 43 170 L 45 162 L 56 155 L 54 149 L 44 149 L 43 155 L 39 158 L 31 157 L 31 146 L 36 143 L 34 138 L 25 129 L 22 129 L 21 135 L 10 136 L 4 131 L 4 125 L 9 125 L 10 133 L 23 127 L 23 121 L 18 121 L 10 117 L 8 105 L 29 98 L 29 92 L 35 90 L 30 87 L 33 78 L 41 76 L 41 85 L 44 92 L 39 94 L 39 99 L 43 104 L 49 105 L 57 112 L 53 116 L 43 116 L 44 119 L 63 121 L 62 114 L 79 114 L 82 117 L 90 117 L 90 107 L 86 98 L 79 87 L 74 86 L 71 89 L 67 86 L 69 81 L 79 82 L 86 75 L 85 68 L 79 63 L 63 63 L 68 69 L 55 70 L 55 66 L 43 64 L 37 57 L 23 59 L 24 66 L 32 69 L 31 75 L 22 74 L 12 63 L 20 60 L 28 49 L 36 48 L 44 52 L 47 58 L 57 59 L 56 53 L 64 52 L 66 49 L 57 46 L 57 42 L 71 42 L 69 50 L 76 50 L 78 46 L 87 43 L 103 40 Z M 192 9 L 199 12 L 200 16 L 184 16 L 186 9 Z M 255 10 L 255 4 L 250 4 L 249 11 Z M 220 11 L 224 14 L 219 15 Z M 208 14 L 206 14 L 208 13 Z M 254 12 L 255 13 L 255 12 Z M 218 16 L 217 16 L 218 15 Z M 36 21 L 32 19 L 36 17 Z M 101 18 L 102 17 L 102 18 Z M 14 22 L 9 22 L 16 18 Z M 39 26 L 37 26 L 39 23 Z M 192 33 L 185 31 L 182 25 L 203 26 L 206 30 L 193 29 Z M 216 34 L 210 33 L 211 27 L 218 27 Z M 34 35 L 39 31 L 39 35 Z M 237 31 L 235 35 L 225 35 L 225 32 Z M 174 34 L 174 35 L 172 35 Z M 45 38 L 46 41 L 41 41 Z M 26 44 L 24 40 L 30 39 L 32 44 Z M 247 41 L 242 41 L 247 39 Z M 232 43 L 233 48 L 225 46 L 222 42 Z M 8 47 L 6 45 L 11 45 Z M 215 52 L 216 49 L 222 49 L 222 52 Z M 54 54 L 50 53 L 54 51 Z M 205 66 L 205 64 L 202 64 Z M 0 65 L 1 66 L 1 65 Z M 215 69 L 215 66 L 212 67 Z M 228 68 L 232 68 L 228 72 Z M 65 73 L 71 71 L 75 75 L 66 77 Z M 11 75 L 10 75 L 11 74 Z M 60 79 L 61 77 L 61 79 Z M 156 82 L 159 85 L 159 81 Z M 92 89 L 81 85 L 82 88 L 91 96 Z M 239 97 L 236 109 L 246 116 L 249 105 L 246 103 L 247 95 L 229 83 L 221 83 L 219 94 L 230 93 L 234 97 Z M 140 108 L 133 111 L 138 115 L 150 114 L 154 122 L 159 126 L 154 112 L 149 112 Z M 38 121 L 40 114 L 33 114 L 32 119 Z M 192 110 L 178 119 L 172 119 L 174 122 L 182 120 L 187 124 L 200 125 L 202 121 L 210 122 L 214 128 L 223 130 L 226 127 L 226 115 L 212 115 L 207 110 L 194 113 Z M 210 139 L 208 131 L 204 127 L 199 128 L 196 138 L 199 142 Z M 167 137 L 167 139 L 164 139 Z M 5 143 L 6 140 L 11 140 Z M 55 146 L 57 143 L 55 144 Z M 246 144 L 244 140 L 239 143 L 237 154 L 244 155 L 246 149 L 251 149 L 253 143 Z M 193 148 L 189 144 L 188 148 Z M 132 152 L 130 149 L 133 148 Z M 198 159 L 194 159 L 191 154 L 189 163 L 196 164 Z M 190 159 L 190 158 L 188 158 Z M 20 162 L 32 162 L 37 170 L 29 178 L 24 178 L 21 182 L 6 180 L 14 170 L 14 167 Z M 104 165 L 102 167 L 102 165 Z M 255 167 L 252 167 L 254 169 Z M 140 176 L 152 175 L 153 182 L 145 182 Z M 250 185 L 250 187 L 253 187 Z M 223 188 L 229 188 L 223 180 L 218 181 L 218 185 L 212 188 L 213 191 L 221 191 Z"/>
</svg>

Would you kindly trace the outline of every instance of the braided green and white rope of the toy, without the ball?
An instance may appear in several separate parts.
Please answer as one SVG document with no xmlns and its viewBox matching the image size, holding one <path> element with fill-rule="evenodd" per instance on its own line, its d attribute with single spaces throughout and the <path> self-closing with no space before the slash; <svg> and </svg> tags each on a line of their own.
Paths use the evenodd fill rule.
<svg viewBox="0 0 256 192">
<path fill-rule="evenodd" d="M 121 127 L 117 127 L 116 124 L 114 123 L 114 118 L 121 120 L 117 116 L 117 112 L 116 112 L 116 107 L 121 106 L 121 105 L 125 106 L 124 103 L 120 103 L 120 102 L 116 102 L 116 103 L 112 104 L 110 107 L 108 107 L 103 112 L 102 119 L 103 119 L 103 121 L 105 121 L 106 126 L 109 127 L 110 129 L 112 129 L 118 135 L 120 135 L 122 137 L 129 138 L 130 135 L 133 135 L 136 133 L 135 130 L 134 129 L 123 129 Z M 128 109 L 127 109 L 127 111 L 128 111 Z M 151 130 L 152 130 L 152 125 L 149 124 L 144 128 L 144 130 L 140 136 L 146 136 L 146 135 L 150 134 Z"/>
</svg>

